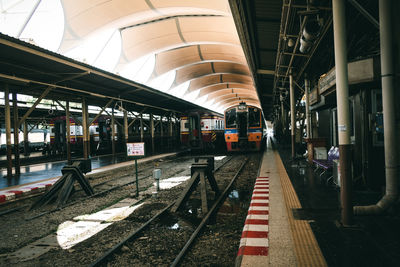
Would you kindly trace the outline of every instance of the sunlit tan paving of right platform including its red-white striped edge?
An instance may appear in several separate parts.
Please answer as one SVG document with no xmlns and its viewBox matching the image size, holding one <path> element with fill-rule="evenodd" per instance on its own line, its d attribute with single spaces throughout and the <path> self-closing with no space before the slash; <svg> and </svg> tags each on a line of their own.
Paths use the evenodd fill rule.
<svg viewBox="0 0 400 267">
<path fill-rule="evenodd" d="M 236 266 L 327 266 L 281 157 L 268 141 L 243 227 Z"/>
</svg>

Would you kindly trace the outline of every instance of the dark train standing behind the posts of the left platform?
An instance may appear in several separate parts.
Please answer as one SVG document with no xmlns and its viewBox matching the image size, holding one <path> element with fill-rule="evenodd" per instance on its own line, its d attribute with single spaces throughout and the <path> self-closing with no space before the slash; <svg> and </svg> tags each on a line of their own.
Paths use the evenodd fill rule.
<svg viewBox="0 0 400 267">
<path fill-rule="evenodd" d="M 81 120 L 81 117 L 78 117 Z M 50 143 L 48 152 L 50 154 L 66 153 L 66 121 L 65 116 L 53 117 L 49 120 L 50 126 Z M 146 151 L 153 150 L 152 140 L 154 140 L 154 152 L 164 152 L 172 150 L 179 142 L 178 134 L 169 136 L 169 128 L 171 131 L 178 133 L 177 125 L 166 118 L 160 121 L 157 117 L 154 121 L 154 137 L 150 131 L 150 116 L 143 116 L 143 136 L 141 136 L 141 123 L 139 118 L 131 118 L 128 126 L 128 142 L 144 142 Z M 120 153 L 125 151 L 125 138 L 123 118 L 115 117 L 115 152 Z M 102 115 L 97 118 L 89 126 L 90 134 L 90 154 L 100 155 L 112 153 L 112 126 L 111 116 Z M 83 128 L 76 124 L 73 118 L 70 118 L 70 143 L 71 151 L 75 154 L 81 154 L 83 151 Z"/>
</svg>

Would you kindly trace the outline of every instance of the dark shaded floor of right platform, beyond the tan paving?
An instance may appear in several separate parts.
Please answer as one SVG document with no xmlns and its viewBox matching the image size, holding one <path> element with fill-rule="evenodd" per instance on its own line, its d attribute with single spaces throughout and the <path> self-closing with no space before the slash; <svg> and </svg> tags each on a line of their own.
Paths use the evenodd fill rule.
<svg viewBox="0 0 400 267">
<path fill-rule="evenodd" d="M 328 266 L 399 266 L 400 207 L 382 216 L 356 216 L 354 226 L 340 224 L 340 188 L 326 183 L 305 159 L 291 161 L 288 145 L 279 145 L 280 156 L 300 200 L 295 219 L 312 228 Z M 353 191 L 354 205 L 375 204 L 380 192 Z"/>
</svg>

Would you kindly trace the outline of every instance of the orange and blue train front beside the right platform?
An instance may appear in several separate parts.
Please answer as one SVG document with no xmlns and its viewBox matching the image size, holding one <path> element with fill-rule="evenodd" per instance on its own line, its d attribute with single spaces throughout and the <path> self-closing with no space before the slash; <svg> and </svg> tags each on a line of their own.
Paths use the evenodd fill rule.
<svg viewBox="0 0 400 267">
<path fill-rule="evenodd" d="M 261 109 L 244 102 L 225 110 L 225 142 L 228 151 L 262 149 L 265 123 Z"/>
</svg>

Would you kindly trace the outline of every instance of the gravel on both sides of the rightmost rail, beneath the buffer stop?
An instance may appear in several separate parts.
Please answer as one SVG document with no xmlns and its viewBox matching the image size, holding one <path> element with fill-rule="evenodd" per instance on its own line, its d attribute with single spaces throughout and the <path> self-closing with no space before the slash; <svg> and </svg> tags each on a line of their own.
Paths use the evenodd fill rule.
<svg viewBox="0 0 400 267">
<path fill-rule="evenodd" d="M 258 171 L 259 155 L 250 155 L 250 158 L 234 186 L 234 190 L 240 191 L 240 195 L 243 196 L 241 201 L 245 200 L 247 204 L 242 204 L 239 200 L 231 203 L 228 200 L 225 206 L 230 207 L 231 211 L 235 210 L 233 206 L 239 206 L 237 212 L 218 215 L 215 223 L 205 228 L 203 235 L 183 259 L 182 265 L 234 266 L 250 202 L 248 192 L 254 185 Z M 231 181 L 243 159 L 242 156 L 235 158 L 216 173 L 215 178 L 221 191 Z M 179 196 L 181 190 L 176 193 L 176 196 Z M 198 190 L 191 200 L 201 202 Z M 211 205 L 212 203 L 209 203 L 209 206 Z M 161 221 L 151 224 L 137 240 L 126 243 L 121 251 L 107 263 L 107 266 L 169 266 L 200 220 L 201 218 L 197 218 L 197 222 L 194 222 L 195 220 L 184 220 L 182 217 L 177 218 L 169 214 Z"/>
</svg>

